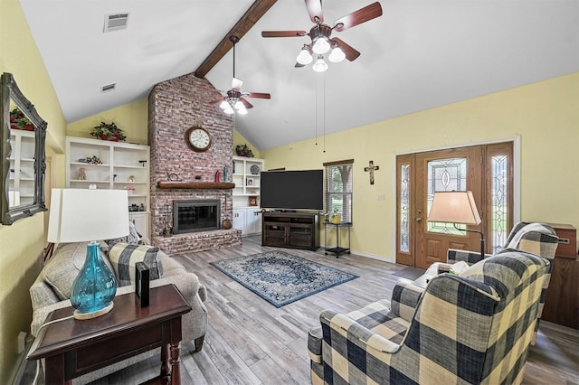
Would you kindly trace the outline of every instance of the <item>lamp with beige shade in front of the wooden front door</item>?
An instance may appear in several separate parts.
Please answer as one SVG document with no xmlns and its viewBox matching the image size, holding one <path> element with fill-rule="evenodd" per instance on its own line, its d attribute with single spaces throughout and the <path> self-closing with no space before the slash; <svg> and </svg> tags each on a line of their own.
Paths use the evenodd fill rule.
<svg viewBox="0 0 579 385">
<path fill-rule="evenodd" d="M 478 225 L 480 223 L 479 211 L 472 192 L 434 192 L 427 221 L 452 223 L 457 230 L 478 232 L 480 234 L 480 256 L 484 258 L 485 236 L 482 231 L 459 229 L 456 226 L 457 223 L 466 225 Z"/>
</svg>

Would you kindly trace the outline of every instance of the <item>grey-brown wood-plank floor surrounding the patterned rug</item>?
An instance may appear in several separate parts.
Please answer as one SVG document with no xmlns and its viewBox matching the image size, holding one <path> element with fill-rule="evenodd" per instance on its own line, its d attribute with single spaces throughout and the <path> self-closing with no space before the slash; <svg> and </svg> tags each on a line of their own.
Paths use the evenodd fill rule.
<svg viewBox="0 0 579 385">
<path fill-rule="evenodd" d="M 285 249 L 291 254 L 340 268 L 359 278 L 298 302 L 276 308 L 225 276 L 209 262 L 260 253 L 260 237 L 243 239 L 242 247 L 176 255 L 207 287 L 208 332 L 201 352 L 182 344 L 184 384 L 308 384 L 308 329 L 318 324 L 323 309 L 349 312 L 381 298 L 390 298 L 402 277 L 402 266 L 355 255 L 339 258 L 317 252 Z M 159 359 L 149 359 L 93 382 L 134 384 L 158 374 Z M 529 353 L 526 384 L 579 384 L 579 332 L 543 322 Z"/>
</svg>

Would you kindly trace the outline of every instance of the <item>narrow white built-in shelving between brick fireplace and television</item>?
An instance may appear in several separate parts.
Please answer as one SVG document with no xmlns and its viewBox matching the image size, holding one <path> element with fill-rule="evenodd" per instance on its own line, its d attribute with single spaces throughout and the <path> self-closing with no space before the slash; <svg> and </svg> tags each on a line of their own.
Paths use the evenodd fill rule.
<svg viewBox="0 0 579 385">
<path fill-rule="evenodd" d="M 260 189 L 263 159 L 233 156 L 233 227 L 242 235 L 261 233 Z M 250 205 L 250 200 L 255 204 Z"/>
</svg>

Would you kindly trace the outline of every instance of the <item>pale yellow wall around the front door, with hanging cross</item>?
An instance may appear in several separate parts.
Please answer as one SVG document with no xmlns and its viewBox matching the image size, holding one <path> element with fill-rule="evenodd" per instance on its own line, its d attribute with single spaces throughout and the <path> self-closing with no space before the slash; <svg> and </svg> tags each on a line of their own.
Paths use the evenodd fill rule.
<svg viewBox="0 0 579 385">
<path fill-rule="evenodd" d="M 521 219 L 579 227 L 579 73 L 261 151 L 268 168 L 355 159 L 352 249 L 394 260 L 395 155 L 520 136 Z M 380 166 L 370 185 L 364 167 Z M 386 199 L 378 201 L 384 194 Z"/>
</svg>

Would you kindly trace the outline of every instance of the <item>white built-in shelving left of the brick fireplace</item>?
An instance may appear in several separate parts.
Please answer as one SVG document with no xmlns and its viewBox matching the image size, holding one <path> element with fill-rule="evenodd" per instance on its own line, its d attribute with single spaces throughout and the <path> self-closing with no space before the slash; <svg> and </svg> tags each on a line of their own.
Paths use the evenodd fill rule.
<svg viewBox="0 0 579 385">
<path fill-rule="evenodd" d="M 93 156 L 100 163 L 87 162 Z M 149 156 L 149 146 L 67 136 L 66 186 L 128 190 L 129 217 L 150 237 Z"/>
</svg>

